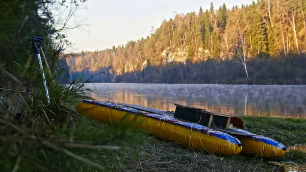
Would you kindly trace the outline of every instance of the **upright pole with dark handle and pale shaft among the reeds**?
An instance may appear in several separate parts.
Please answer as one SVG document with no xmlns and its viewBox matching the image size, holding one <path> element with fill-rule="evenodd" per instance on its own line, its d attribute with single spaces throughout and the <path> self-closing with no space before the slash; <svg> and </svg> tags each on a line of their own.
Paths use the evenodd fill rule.
<svg viewBox="0 0 306 172">
<path fill-rule="evenodd" d="M 42 62 L 41 62 L 41 57 L 40 57 L 40 47 L 41 47 L 42 41 L 43 41 L 43 37 L 36 37 L 36 36 L 33 37 L 34 52 L 37 54 L 37 58 L 38 58 L 38 62 L 39 62 L 39 67 L 40 67 L 40 70 L 41 70 L 41 73 L 42 73 L 43 86 L 44 86 L 44 89 L 46 91 L 47 102 L 50 103 L 48 87 L 47 87 L 47 83 L 46 83 L 46 78 L 44 76 Z"/>
</svg>

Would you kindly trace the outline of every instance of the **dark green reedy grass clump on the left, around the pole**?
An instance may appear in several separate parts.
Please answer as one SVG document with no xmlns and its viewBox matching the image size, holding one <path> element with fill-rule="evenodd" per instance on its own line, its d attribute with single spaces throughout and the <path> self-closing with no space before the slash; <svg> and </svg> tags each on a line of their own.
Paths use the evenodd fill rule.
<svg viewBox="0 0 306 172">
<path fill-rule="evenodd" d="M 38 63 L 15 63 L 16 71 L 26 79 L 30 92 L 19 94 L 21 100 L 15 103 L 19 108 L 16 107 L 13 114 L 5 118 L 0 115 L 1 171 L 50 171 L 50 168 L 53 168 L 52 171 L 60 170 L 53 166 L 55 162 L 51 166 L 43 163 L 43 158 L 53 158 L 48 155 L 48 151 L 103 170 L 104 167 L 67 149 L 121 149 L 118 146 L 101 145 L 101 142 L 93 143 L 73 138 L 73 126 L 80 116 L 72 107 L 80 99 L 84 99 L 85 92 L 90 90 L 84 88 L 86 81 L 80 78 L 73 80 L 70 85 L 57 82 L 62 72 L 57 69 L 58 64 L 65 58 L 62 47 L 63 44 L 52 44 L 48 52 L 52 62 L 49 63 L 50 68 L 44 69 L 50 103 L 47 103 Z M 3 101 L 4 99 L 1 100 Z M 7 102 L 10 103 L 10 99 Z M 70 137 L 64 138 L 63 135 Z"/>
</svg>

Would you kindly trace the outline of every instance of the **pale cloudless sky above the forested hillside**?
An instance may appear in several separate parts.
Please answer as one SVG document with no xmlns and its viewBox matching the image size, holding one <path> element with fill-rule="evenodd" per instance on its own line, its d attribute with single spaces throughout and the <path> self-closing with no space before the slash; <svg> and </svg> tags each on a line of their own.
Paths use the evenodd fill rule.
<svg viewBox="0 0 306 172">
<path fill-rule="evenodd" d="M 225 3 L 227 9 L 251 0 L 213 1 L 215 10 Z M 78 13 L 79 19 L 89 24 L 88 32 L 73 30 L 68 35 L 73 51 L 95 51 L 125 44 L 129 40 L 146 38 L 151 27 L 159 28 L 164 19 L 173 18 L 174 12 L 188 13 L 210 8 L 205 0 L 89 0 L 88 10 Z"/>
</svg>

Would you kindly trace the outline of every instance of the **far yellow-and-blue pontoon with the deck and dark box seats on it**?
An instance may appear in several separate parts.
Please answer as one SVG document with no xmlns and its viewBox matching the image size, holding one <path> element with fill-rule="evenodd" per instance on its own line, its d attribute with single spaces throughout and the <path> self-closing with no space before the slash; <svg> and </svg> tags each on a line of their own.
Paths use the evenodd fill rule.
<svg viewBox="0 0 306 172">
<path fill-rule="evenodd" d="M 222 133 L 227 133 L 237 137 L 241 143 L 243 143 L 243 148 L 241 154 L 247 156 L 262 156 L 263 158 L 278 158 L 284 156 L 286 153 L 286 147 L 271 138 L 250 133 L 246 130 L 237 128 L 242 127 L 242 120 L 237 117 L 233 117 L 226 114 L 220 114 L 216 112 L 208 112 L 204 109 L 195 108 L 186 105 L 174 104 L 176 107 L 175 112 L 165 112 L 157 109 L 146 108 L 138 105 L 120 104 L 126 107 L 157 113 L 164 116 L 176 117 L 176 119 L 183 119 L 189 122 L 197 122 L 199 125 L 206 126 L 210 129 L 217 130 Z M 209 116 L 206 116 L 209 115 Z M 213 115 L 213 116 L 211 116 Z M 215 117 L 217 119 L 215 120 Z M 223 119 L 222 119 L 223 118 Z M 206 122 L 205 122 L 206 121 Z M 212 127 L 209 126 L 209 121 L 212 121 L 214 125 L 219 125 L 223 127 Z M 223 121 L 223 123 L 222 123 Z M 235 128 L 229 129 L 226 126 L 230 123 L 234 123 Z"/>
</svg>

